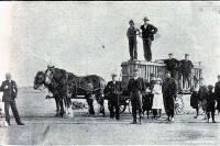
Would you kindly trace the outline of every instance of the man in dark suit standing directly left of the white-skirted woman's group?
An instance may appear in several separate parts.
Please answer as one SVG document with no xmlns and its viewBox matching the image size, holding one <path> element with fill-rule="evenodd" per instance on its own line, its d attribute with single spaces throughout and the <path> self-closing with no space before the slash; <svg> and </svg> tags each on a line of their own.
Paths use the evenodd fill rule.
<svg viewBox="0 0 220 146">
<path fill-rule="evenodd" d="M 133 121 L 131 124 L 136 124 L 136 111 L 139 111 L 140 124 L 141 124 L 141 98 L 142 92 L 145 91 L 145 85 L 142 78 L 139 77 L 139 70 L 135 69 L 133 72 L 133 78 L 129 80 L 128 91 L 130 92 L 131 105 L 132 105 L 132 116 Z"/>
</svg>

